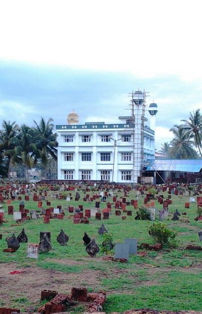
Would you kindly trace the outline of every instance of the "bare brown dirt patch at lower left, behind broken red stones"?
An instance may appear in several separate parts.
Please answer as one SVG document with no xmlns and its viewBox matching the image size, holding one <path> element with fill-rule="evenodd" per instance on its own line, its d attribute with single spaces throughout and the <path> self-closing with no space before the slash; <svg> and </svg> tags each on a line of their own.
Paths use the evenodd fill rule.
<svg viewBox="0 0 202 314">
<path fill-rule="evenodd" d="M 23 273 L 11 275 L 14 270 Z M 51 289 L 63 293 L 70 293 L 72 287 L 98 288 L 99 271 L 84 270 L 82 273 L 63 273 L 38 267 L 18 268 L 15 263 L 0 264 L 0 301 L 6 307 L 13 306 L 18 298 L 26 298 L 32 305 L 37 304 L 41 297 L 41 290 Z"/>
</svg>

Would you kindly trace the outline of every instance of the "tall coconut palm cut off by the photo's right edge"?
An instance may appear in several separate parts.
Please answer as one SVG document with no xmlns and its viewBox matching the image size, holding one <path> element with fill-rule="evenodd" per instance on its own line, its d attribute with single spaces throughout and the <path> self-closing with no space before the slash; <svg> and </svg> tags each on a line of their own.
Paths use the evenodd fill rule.
<svg viewBox="0 0 202 314">
<path fill-rule="evenodd" d="M 195 147 L 198 148 L 202 157 L 202 115 L 200 109 L 197 109 L 193 113 L 189 112 L 189 120 L 181 120 L 184 122 L 184 130 L 194 140 Z"/>
</svg>

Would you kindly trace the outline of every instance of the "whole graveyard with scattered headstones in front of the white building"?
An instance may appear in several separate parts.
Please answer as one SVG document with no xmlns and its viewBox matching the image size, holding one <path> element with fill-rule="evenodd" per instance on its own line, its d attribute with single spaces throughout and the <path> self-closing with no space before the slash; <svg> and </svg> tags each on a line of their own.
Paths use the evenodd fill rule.
<svg viewBox="0 0 202 314">
<path fill-rule="evenodd" d="M 25 186 L 0 186 L 0 308 L 201 311 L 202 186 Z M 175 233 L 175 245 L 151 236 L 154 223 Z M 48 310 L 47 291 L 66 295 L 68 309 Z"/>
</svg>

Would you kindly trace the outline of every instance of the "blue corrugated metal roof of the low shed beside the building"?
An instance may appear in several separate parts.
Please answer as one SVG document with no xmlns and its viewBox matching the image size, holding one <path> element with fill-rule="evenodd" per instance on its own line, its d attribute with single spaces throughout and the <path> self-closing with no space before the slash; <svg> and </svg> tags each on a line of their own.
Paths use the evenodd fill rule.
<svg viewBox="0 0 202 314">
<path fill-rule="evenodd" d="M 202 169 L 202 159 L 155 159 L 148 162 L 146 171 L 200 172 Z"/>
</svg>

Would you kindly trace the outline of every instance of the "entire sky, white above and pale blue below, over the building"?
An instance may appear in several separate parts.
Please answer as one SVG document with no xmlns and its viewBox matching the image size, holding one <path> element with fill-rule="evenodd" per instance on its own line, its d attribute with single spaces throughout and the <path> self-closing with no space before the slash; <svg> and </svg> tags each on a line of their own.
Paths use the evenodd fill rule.
<svg viewBox="0 0 202 314">
<path fill-rule="evenodd" d="M 128 93 L 158 105 L 156 148 L 202 109 L 200 0 L 0 2 L 0 122 L 117 122 Z M 148 113 L 147 113 L 148 114 Z"/>
</svg>

